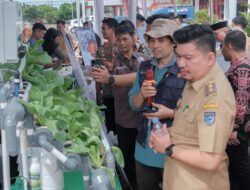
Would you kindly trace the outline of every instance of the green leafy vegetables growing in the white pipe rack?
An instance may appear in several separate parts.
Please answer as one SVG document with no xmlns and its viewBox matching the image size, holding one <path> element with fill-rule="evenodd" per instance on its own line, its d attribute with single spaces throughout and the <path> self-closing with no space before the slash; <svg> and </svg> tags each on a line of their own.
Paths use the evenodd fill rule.
<svg viewBox="0 0 250 190">
<path fill-rule="evenodd" d="M 36 43 L 27 53 L 27 64 L 22 73 L 24 80 L 32 83 L 29 102 L 20 100 L 27 111 L 33 115 L 37 125 L 47 126 L 59 142 L 70 141 L 66 152 L 88 155 L 92 167 L 105 168 L 114 185 L 114 171 L 104 166 L 105 152 L 100 134 L 104 117 L 102 107 L 83 97 L 83 89 L 72 89 L 72 77 L 62 77 L 56 70 L 44 70 L 51 58 L 38 49 L 43 41 Z M 112 147 L 118 163 L 124 166 L 119 148 Z M 113 172 L 113 173 L 112 173 Z"/>
</svg>

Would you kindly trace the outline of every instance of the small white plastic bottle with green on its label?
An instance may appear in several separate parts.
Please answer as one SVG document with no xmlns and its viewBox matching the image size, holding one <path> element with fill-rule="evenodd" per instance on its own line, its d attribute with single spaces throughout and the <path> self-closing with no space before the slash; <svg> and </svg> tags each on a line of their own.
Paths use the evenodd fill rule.
<svg viewBox="0 0 250 190">
<path fill-rule="evenodd" d="M 29 167 L 31 190 L 41 190 L 40 161 L 38 157 L 32 157 Z"/>
</svg>

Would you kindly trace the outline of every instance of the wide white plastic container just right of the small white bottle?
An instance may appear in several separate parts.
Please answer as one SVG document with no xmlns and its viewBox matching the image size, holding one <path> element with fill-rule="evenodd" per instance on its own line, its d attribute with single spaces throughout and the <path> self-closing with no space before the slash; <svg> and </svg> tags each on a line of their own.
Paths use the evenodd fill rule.
<svg viewBox="0 0 250 190">
<path fill-rule="evenodd" d="M 57 167 L 57 160 L 47 151 L 41 157 L 42 190 L 63 190 L 63 172 Z"/>
</svg>

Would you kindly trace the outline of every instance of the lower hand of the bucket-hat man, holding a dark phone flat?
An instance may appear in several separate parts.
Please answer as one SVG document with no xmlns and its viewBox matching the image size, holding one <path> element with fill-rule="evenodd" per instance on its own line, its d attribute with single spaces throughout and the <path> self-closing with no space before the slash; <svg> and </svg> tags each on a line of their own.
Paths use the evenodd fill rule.
<svg viewBox="0 0 250 190">
<path fill-rule="evenodd" d="M 162 105 L 162 104 L 152 104 L 153 107 L 157 108 L 157 112 L 153 113 L 143 113 L 144 116 L 146 116 L 148 119 L 152 119 L 153 117 L 158 117 L 159 119 L 167 119 L 167 118 L 173 118 L 174 117 L 174 110 L 169 109 L 168 107 Z"/>
</svg>

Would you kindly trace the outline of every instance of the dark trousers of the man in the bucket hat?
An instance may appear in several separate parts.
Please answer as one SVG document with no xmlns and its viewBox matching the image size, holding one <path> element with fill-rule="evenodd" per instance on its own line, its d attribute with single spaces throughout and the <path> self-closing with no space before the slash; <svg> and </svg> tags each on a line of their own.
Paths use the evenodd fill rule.
<svg viewBox="0 0 250 190">
<path fill-rule="evenodd" d="M 161 190 L 163 169 L 146 166 L 136 161 L 138 190 Z"/>
</svg>

